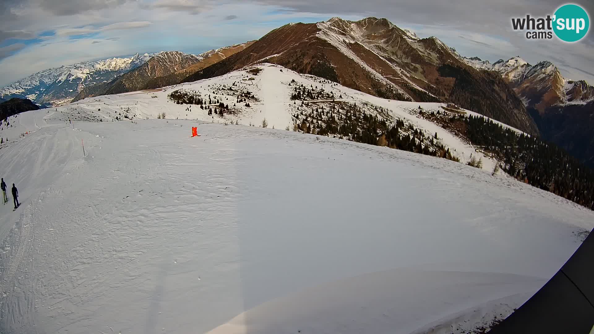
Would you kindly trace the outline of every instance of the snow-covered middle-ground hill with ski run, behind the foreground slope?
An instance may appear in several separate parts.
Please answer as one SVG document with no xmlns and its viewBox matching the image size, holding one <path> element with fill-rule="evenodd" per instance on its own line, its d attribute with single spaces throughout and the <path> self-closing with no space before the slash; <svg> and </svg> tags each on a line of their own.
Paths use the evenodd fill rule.
<svg viewBox="0 0 594 334">
<path fill-rule="evenodd" d="M 262 71 L 258 75 L 252 75 L 248 71 L 253 68 L 260 68 Z M 253 78 L 253 80 L 249 80 Z M 292 83 L 292 80 L 295 80 Z M 236 83 L 236 86 L 232 86 Z M 87 115 L 93 115 L 93 120 L 98 121 L 112 121 L 116 116 L 124 114 L 122 111 L 129 109 L 129 115 L 134 119 L 157 118 L 158 114 L 165 112 L 166 118 L 169 119 L 197 119 L 209 122 L 238 122 L 242 125 L 254 124 L 258 127 L 264 118 L 268 121 L 268 127 L 275 127 L 277 129 L 284 129 L 287 126 L 290 130 L 293 129 L 292 114 L 299 108 L 299 103 L 295 105 L 295 101 L 290 100 L 290 95 L 296 85 L 303 84 L 307 87 L 324 88 L 328 93 L 334 93 L 336 100 L 345 101 L 349 103 L 368 103 L 371 106 L 378 106 L 386 108 L 390 116 L 395 121 L 396 119 L 404 119 L 406 122 L 413 124 L 416 128 L 422 128 L 426 134 L 432 136 L 436 132 L 441 138 L 441 141 L 448 147 L 454 155 L 458 156 L 462 163 L 466 163 L 470 159 L 470 155 L 481 157 L 483 160 L 483 168 L 485 172 L 493 170 L 495 162 L 482 153 L 476 152 L 476 147 L 470 146 L 460 138 L 454 136 L 450 132 L 439 127 L 431 121 L 423 119 L 415 115 L 415 111 L 419 106 L 425 111 L 440 111 L 444 112 L 441 106 L 445 103 L 425 103 L 425 102 L 404 102 L 397 100 L 387 100 L 380 97 L 372 96 L 358 90 L 349 89 L 339 84 L 331 83 L 323 78 L 314 77 L 312 75 L 298 74 L 294 71 L 287 70 L 280 65 L 260 64 L 248 67 L 245 70 L 233 71 L 232 73 L 215 77 L 208 80 L 196 81 L 194 83 L 184 83 L 176 86 L 165 87 L 162 90 L 149 90 L 141 92 L 132 92 L 119 95 L 108 95 L 99 97 L 90 97 L 81 100 L 71 105 L 56 108 L 62 112 L 61 119 L 87 119 Z M 229 92 L 221 87 L 235 87 L 235 92 Z M 208 99 L 211 96 L 213 99 L 220 99 L 223 103 L 230 106 L 235 103 L 236 99 L 233 94 L 237 90 L 244 90 L 254 94 L 259 102 L 250 102 L 250 108 L 244 106 L 245 103 L 236 103 L 238 113 L 236 115 L 225 115 L 224 118 L 214 115 L 209 116 L 206 109 L 200 109 L 199 106 L 194 105 L 191 111 L 187 111 L 188 105 L 177 105 L 168 99 L 168 94 L 176 90 L 185 90 L 187 92 L 197 92 Z M 342 96 L 342 98 L 339 98 Z M 213 103 L 213 106 L 217 103 Z M 98 109 L 101 109 L 98 111 Z M 302 108 L 299 110 L 304 110 Z M 311 108 L 310 108 L 311 109 Z M 77 114 L 81 112 L 81 114 Z M 374 109 L 368 108 L 366 112 L 373 114 Z M 465 111 L 467 114 L 479 115 L 472 111 Z M 81 116 L 82 115 L 82 116 Z M 495 121 L 497 122 L 497 121 Z M 500 123 L 500 122 L 497 122 Z M 505 125 L 507 126 L 507 125 Z M 516 129 L 514 129 L 516 130 Z M 519 130 L 516 130 L 520 132 Z"/>
</svg>

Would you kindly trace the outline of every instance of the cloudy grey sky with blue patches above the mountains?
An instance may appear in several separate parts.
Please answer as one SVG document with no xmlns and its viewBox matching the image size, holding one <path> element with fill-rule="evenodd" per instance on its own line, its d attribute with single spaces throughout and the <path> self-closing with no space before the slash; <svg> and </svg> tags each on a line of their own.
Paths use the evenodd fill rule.
<svg viewBox="0 0 594 334">
<path fill-rule="evenodd" d="M 549 60 L 594 84 L 594 33 L 577 43 L 526 40 L 512 17 L 552 14 L 553 0 L 0 0 L 0 86 L 50 67 L 177 50 L 201 53 L 258 39 L 289 22 L 385 17 L 491 62 Z M 573 2 L 594 13 L 590 0 Z M 590 14 L 592 16 L 592 14 Z"/>
</svg>

